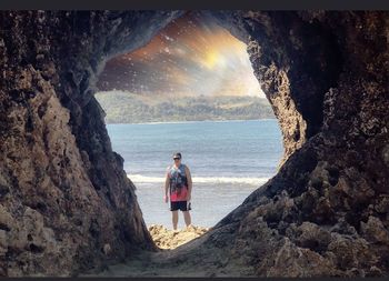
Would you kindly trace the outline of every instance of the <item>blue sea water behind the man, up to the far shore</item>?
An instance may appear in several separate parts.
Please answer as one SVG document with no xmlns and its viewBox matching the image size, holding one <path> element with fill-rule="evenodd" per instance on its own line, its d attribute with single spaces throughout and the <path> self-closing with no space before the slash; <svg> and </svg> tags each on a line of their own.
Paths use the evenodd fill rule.
<svg viewBox="0 0 389 281">
<path fill-rule="evenodd" d="M 163 201 L 166 169 L 181 152 L 193 188 L 192 224 L 212 227 L 277 172 L 282 139 L 277 120 L 107 124 L 147 225 L 171 229 Z M 179 228 L 183 228 L 179 214 Z"/>
</svg>

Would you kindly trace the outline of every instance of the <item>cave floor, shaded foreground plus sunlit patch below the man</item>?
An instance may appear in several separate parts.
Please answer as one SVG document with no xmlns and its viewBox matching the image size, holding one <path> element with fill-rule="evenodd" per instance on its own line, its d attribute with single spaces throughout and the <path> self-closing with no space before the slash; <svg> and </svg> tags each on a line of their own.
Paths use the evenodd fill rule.
<svg viewBox="0 0 389 281">
<path fill-rule="evenodd" d="M 172 231 L 163 225 L 150 225 L 150 234 L 159 247 L 159 251 L 142 251 L 121 263 L 109 264 L 103 269 L 92 269 L 78 277 L 212 277 L 216 269 L 223 262 L 220 259 L 213 259 L 199 270 L 180 258 L 183 252 L 193 252 L 209 230 L 189 225 L 182 230 Z M 249 268 L 245 271 L 240 264 L 232 264 L 232 267 L 230 264 L 229 271 L 221 270 L 218 277 L 241 277 L 246 275 L 245 272 L 247 275 L 252 275 Z"/>
</svg>

